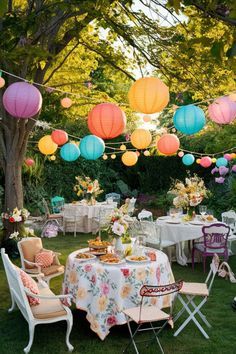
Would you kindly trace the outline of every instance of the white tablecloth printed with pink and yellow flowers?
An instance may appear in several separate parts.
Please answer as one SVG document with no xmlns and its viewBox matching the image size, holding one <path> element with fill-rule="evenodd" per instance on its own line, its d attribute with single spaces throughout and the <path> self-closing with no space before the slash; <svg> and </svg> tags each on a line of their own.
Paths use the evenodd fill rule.
<svg viewBox="0 0 236 354">
<path fill-rule="evenodd" d="M 66 264 L 63 293 L 71 293 L 78 309 L 87 312 L 92 331 L 104 339 L 114 325 L 126 323 L 122 310 L 139 305 L 139 290 L 143 284 L 160 285 L 174 281 L 167 256 L 156 251 L 156 261 L 143 264 L 125 262 L 103 265 L 99 260 L 80 262 L 71 253 Z M 158 307 L 170 304 L 170 295 L 150 298 Z"/>
</svg>

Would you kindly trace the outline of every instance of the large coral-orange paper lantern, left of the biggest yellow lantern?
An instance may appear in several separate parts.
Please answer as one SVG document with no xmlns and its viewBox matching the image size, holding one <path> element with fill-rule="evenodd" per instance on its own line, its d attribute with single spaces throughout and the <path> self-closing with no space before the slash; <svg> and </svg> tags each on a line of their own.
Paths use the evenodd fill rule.
<svg viewBox="0 0 236 354">
<path fill-rule="evenodd" d="M 114 103 L 101 103 L 88 115 L 90 132 L 102 139 L 113 139 L 124 132 L 125 113 Z"/>
</svg>

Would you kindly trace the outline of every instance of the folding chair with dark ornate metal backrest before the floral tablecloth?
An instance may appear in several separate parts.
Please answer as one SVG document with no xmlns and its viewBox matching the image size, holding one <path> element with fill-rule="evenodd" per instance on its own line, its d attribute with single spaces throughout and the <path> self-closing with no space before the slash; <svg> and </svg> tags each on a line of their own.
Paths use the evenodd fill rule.
<svg viewBox="0 0 236 354">
<path fill-rule="evenodd" d="M 172 311 L 173 311 L 173 304 L 176 296 L 172 296 L 172 303 L 170 307 L 170 312 L 164 312 L 161 309 L 159 309 L 156 305 L 148 305 L 147 304 L 147 299 L 146 298 L 151 298 L 151 297 L 160 297 L 160 296 L 165 296 L 165 295 L 176 295 L 181 287 L 182 287 L 183 282 L 177 281 L 172 284 L 167 284 L 167 285 L 160 285 L 160 286 L 155 286 L 155 285 L 143 285 L 140 289 L 140 296 L 141 296 L 141 302 L 140 305 L 137 307 L 132 307 L 123 310 L 123 313 L 126 316 L 127 320 L 127 325 L 130 333 L 131 340 L 126 346 L 126 348 L 123 350 L 123 353 L 126 352 L 127 348 L 130 346 L 132 343 L 135 349 L 135 352 L 139 354 L 139 350 L 137 347 L 138 342 L 134 341 L 134 337 L 138 332 L 142 331 L 152 331 L 154 336 L 152 336 L 151 341 L 155 340 L 157 341 L 161 352 L 164 354 L 164 351 L 162 349 L 161 343 L 159 341 L 158 335 L 162 331 L 162 329 L 167 325 L 168 321 L 172 320 Z M 133 331 L 130 326 L 130 322 L 134 321 L 137 324 L 137 328 Z M 158 322 L 158 321 L 164 321 L 164 323 L 158 327 L 154 327 L 153 322 Z M 143 325 L 150 324 L 150 327 L 142 327 Z M 142 328 L 141 328 L 142 327 Z"/>
</svg>

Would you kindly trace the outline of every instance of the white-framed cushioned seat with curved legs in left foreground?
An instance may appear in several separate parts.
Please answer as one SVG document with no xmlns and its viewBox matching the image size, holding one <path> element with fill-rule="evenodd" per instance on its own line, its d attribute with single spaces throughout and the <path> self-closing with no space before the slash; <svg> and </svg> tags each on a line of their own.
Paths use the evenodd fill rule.
<svg viewBox="0 0 236 354">
<path fill-rule="evenodd" d="M 38 283 L 39 294 L 31 293 L 24 287 L 19 271 L 9 260 L 4 248 L 1 249 L 1 256 L 12 300 L 11 308 L 8 311 L 13 311 L 15 305 L 17 305 L 29 325 L 29 343 L 24 348 L 24 352 L 29 353 L 31 349 L 36 325 L 58 321 L 67 322 L 66 345 L 71 352 L 74 348 L 69 342 L 69 336 L 73 325 L 73 317 L 71 310 L 60 301 L 61 299 L 69 299 L 71 295 L 56 296 L 45 282 Z M 39 275 L 36 275 L 36 277 L 39 277 Z M 40 303 L 35 306 L 30 306 L 27 295 L 40 299 Z"/>
</svg>

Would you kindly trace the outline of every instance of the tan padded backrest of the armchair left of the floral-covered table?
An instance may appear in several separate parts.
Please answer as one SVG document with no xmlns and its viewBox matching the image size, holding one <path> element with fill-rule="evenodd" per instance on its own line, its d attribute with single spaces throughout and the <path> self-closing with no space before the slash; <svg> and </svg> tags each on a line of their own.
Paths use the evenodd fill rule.
<svg viewBox="0 0 236 354">
<path fill-rule="evenodd" d="M 21 258 L 21 266 L 24 270 L 35 268 L 34 266 L 25 263 L 24 259 L 29 262 L 35 261 L 36 253 L 39 253 L 43 248 L 42 240 L 39 237 L 26 237 L 17 243 Z"/>
</svg>

